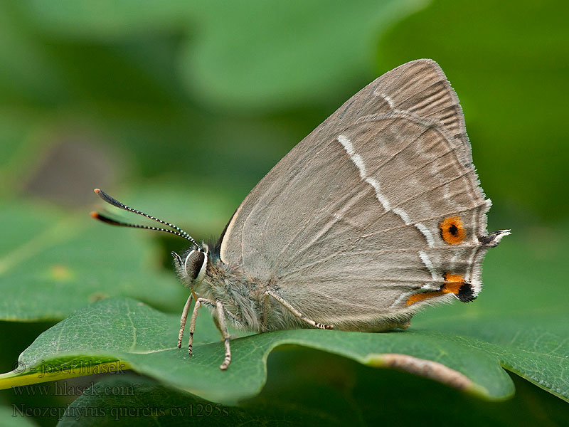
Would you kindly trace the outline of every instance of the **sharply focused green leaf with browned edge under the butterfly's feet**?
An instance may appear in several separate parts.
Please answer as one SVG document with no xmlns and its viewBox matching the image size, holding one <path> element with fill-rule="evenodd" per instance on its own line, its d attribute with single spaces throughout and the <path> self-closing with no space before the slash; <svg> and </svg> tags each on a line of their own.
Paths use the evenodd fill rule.
<svg viewBox="0 0 569 427">
<path fill-rule="evenodd" d="M 204 320 L 202 313 L 201 320 L 209 319 Z M 477 339 L 461 342 L 452 334 L 426 330 L 385 334 L 277 331 L 233 339 L 233 362 L 228 371 L 220 371 L 223 343 L 213 326 L 203 329 L 196 327 L 199 341 L 194 345 L 194 356 L 189 357 L 186 349 L 176 348 L 178 317 L 164 315 L 142 302 L 110 298 L 78 310 L 41 334 L 21 354 L 23 372 L 19 375 L 31 381 L 46 381 L 60 378 L 42 376 L 49 367 L 53 367 L 55 375 L 69 374 L 117 359 L 204 399 L 232 404 L 260 391 L 265 383 L 266 358 L 272 349 L 299 344 L 378 367 L 390 364 L 385 354 L 409 354 L 462 373 L 465 377 L 452 384 L 487 399 L 505 399 L 514 393 L 511 380 L 496 357 L 478 349 L 482 343 Z M 447 375 L 454 374 L 441 370 L 435 379 L 446 381 Z M 9 385 L 15 376 L 16 373 L 5 374 L 4 384 Z"/>
</svg>

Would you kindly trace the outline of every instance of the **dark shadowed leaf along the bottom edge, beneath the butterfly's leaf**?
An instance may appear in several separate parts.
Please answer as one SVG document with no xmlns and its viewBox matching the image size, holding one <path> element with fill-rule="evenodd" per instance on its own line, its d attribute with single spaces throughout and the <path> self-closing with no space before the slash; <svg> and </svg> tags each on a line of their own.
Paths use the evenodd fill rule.
<svg viewBox="0 0 569 427">
<path fill-rule="evenodd" d="M 273 352 L 268 362 L 262 394 L 233 407 L 216 407 L 144 377 L 107 376 L 70 405 L 59 426 L 129 425 L 134 417 L 137 426 L 200 421 L 225 426 L 378 426 L 388 419 L 397 419 L 400 426 L 515 426 L 561 425 L 567 415 L 565 402 L 518 376 L 513 378 L 516 397 L 496 403 L 302 347 Z"/>
</svg>

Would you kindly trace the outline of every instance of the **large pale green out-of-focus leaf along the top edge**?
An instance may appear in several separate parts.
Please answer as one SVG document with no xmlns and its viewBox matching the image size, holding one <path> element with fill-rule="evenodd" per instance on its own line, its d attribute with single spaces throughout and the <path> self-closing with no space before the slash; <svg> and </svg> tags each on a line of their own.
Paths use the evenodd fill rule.
<svg viewBox="0 0 569 427">
<path fill-rule="evenodd" d="M 240 105 L 258 112 L 321 102 L 349 88 L 346 75 L 365 78 L 378 31 L 426 2 L 256 0 L 243 7 L 240 2 L 174 1 L 165 7 L 161 1 L 147 1 L 141 7 L 136 1 L 123 1 L 118 8 L 115 4 L 61 1 L 48 6 L 29 1 L 26 13 L 44 31 L 72 39 L 128 39 L 143 28 L 187 28 L 193 38 L 184 43 L 178 60 L 191 93 L 215 107 Z"/>
</svg>

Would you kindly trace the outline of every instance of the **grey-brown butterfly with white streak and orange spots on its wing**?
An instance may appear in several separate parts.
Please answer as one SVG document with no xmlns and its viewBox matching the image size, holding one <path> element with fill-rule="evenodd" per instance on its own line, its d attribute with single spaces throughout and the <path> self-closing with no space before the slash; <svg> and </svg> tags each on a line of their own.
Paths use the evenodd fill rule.
<svg viewBox="0 0 569 427">
<path fill-rule="evenodd" d="M 95 190 L 119 208 L 191 241 L 172 253 L 191 290 L 189 353 L 198 309 L 211 309 L 231 352 L 227 320 L 265 332 L 317 327 L 406 328 L 426 305 L 474 300 L 488 248 L 484 198 L 457 95 L 433 60 L 400 65 L 353 95 L 255 186 L 215 244 Z"/>
</svg>

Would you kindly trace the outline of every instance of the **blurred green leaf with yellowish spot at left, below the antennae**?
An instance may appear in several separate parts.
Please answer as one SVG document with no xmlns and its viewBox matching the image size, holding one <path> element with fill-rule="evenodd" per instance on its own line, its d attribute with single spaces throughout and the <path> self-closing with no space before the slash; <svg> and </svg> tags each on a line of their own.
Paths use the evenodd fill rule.
<svg viewBox="0 0 569 427">
<path fill-rule="evenodd" d="M 43 204 L 0 209 L 1 320 L 60 320 L 110 296 L 132 296 L 178 311 L 186 292 L 161 271 L 149 236 L 63 214 Z"/>
</svg>

